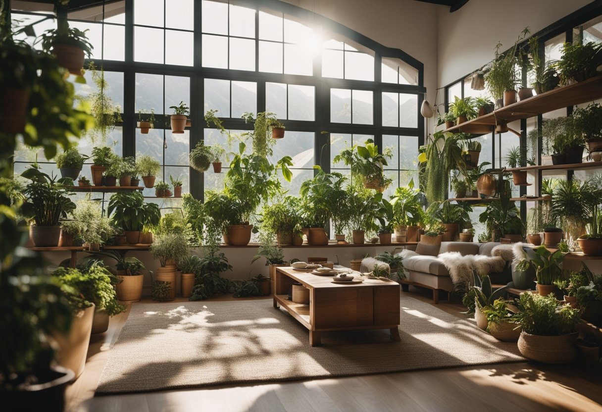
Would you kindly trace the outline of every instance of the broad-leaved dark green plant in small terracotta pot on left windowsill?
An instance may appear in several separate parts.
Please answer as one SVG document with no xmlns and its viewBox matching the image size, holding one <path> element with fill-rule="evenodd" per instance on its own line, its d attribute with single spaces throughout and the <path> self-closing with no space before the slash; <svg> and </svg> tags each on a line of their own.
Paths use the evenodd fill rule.
<svg viewBox="0 0 602 412">
<path fill-rule="evenodd" d="M 138 191 L 122 192 L 111 196 L 108 216 L 114 226 L 123 228 L 128 243 L 134 245 L 140 241 L 140 231 L 145 225 L 159 222 L 161 211 L 157 204 L 145 203 Z"/>
</svg>

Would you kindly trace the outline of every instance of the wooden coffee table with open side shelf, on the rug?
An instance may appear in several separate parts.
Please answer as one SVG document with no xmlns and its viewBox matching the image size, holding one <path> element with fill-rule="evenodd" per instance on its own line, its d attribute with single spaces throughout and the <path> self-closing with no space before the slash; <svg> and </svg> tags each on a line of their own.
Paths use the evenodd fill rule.
<svg viewBox="0 0 602 412">
<path fill-rule="evenodd" d="M 359 272 L 355 273 L 356 278 Z M 309 289 L 309 304 L 288 300 L 293 282 Z M 399 341 L 399 284 L 392 280 L 365 279 L 362 283 L 335 284 L 332 276 L 309 270 L 277 267 L 274 307 L 281 305 L 309 329 L 309 344 L 320 345 L 321 332 L 353 329 L 389 329 Z"/>
</svg>

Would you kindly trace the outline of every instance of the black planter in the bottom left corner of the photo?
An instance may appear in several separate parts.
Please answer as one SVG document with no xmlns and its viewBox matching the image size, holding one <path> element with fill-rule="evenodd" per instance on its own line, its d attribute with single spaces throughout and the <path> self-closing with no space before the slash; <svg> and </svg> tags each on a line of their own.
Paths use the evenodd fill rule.
<svg viewBox="0 0 602 412">
<path fill-rule="evenodd" d="M 54 366 L 36 375 L 39 383 L 24 385 L 19 390 L 0 392 L 2 408 L 7 411 L 63 412 L 67 383 L 75 378 L 72 370 Z M 42 409 L 43 405 L 43 409 Z"/>
</svg>

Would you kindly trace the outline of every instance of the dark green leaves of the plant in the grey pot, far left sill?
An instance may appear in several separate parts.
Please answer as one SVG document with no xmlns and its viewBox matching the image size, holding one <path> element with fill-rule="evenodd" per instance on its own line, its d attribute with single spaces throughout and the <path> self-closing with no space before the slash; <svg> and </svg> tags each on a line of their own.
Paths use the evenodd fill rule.
<svg viewBox="0 0 602 412">
<path fill-rule="evenodd" d="M 22 214 L 36 225 L 57 226 L 61 218 L 66 218 L 67 213 L 75 209 L 67 188 L 72 183 L 70 178 L 57 180 L 36 167 L 26 169 L 21 176 L 31 181 L 23 190 Z"/>
</svg>

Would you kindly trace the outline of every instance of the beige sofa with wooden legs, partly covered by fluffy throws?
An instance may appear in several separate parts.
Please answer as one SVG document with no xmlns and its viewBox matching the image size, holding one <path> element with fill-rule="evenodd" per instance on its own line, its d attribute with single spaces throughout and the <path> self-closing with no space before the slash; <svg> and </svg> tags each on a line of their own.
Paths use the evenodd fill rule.
<svg viewBox="0 0 602 412">
<path fill-rule="evenodd" d="M 438 254 L 444 252 L 460 252 L 462 255 L 487 255 L 491 256 L 491 249 L 500 245 L 497 242 L 441 242 L 437 249 L 433 246 L 427 248 L 417 246 L 418 255 L 403 258 L 406 269 L 406 279 L 402 280 L 402 290 L 408 292 L 409 285 L 426 287 L 433 290 L 433 302 L 439 303 L 439 291 L 452 292 L 454 290 L 452 278 Z M 506 264 L 501 273 L 489 273 L 492 284 L 507 284 L 512 281 L 510 263 Z"/>
</svg>

